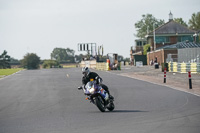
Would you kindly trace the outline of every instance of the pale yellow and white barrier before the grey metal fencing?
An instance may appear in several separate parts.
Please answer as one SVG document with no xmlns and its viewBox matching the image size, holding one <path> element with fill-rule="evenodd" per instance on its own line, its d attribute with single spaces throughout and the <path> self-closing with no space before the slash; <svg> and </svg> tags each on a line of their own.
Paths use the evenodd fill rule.
<svg viewBox="0 0 200 133">
<path fill-rule="evenodd" d="M 180 73 L 200 73 L 200 63 L 168 63 L 169 72 L 180 72 Z"/>
</svg>

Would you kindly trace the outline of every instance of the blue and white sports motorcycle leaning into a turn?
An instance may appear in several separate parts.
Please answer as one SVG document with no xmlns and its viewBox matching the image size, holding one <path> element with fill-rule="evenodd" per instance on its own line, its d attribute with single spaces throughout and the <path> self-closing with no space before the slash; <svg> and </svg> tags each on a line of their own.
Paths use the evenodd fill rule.
<svg viewBox="0 0 200 133">
<path fill-rule="evenodd" d="M 90 81 L 82 88 L 84 94 L 87 96 L 86 100 L 90 100 L 90 102 L 95 104 L 101 112 L 105 112 L 106 109 L 109 111 L 114 110 L 114 99 L 109 98 L 108 93 L 101 85 L 97 85 L 95 81 Z"/>
</svg>

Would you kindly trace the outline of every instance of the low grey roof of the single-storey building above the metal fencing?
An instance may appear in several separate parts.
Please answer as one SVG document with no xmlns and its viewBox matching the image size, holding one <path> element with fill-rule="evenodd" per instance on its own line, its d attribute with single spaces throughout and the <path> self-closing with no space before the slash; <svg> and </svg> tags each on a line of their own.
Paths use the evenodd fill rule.
<svg viewBox="0 0 200 133">
<path fill-rule="evenodd" d="M 193 42 L 179 42 L 173 45 L 166 45 L 163 47 L 159 47 L 158 49 L 181 49 L 181 48 L 198 48 L 200 47 L 200 43 Z"/>
</svg>

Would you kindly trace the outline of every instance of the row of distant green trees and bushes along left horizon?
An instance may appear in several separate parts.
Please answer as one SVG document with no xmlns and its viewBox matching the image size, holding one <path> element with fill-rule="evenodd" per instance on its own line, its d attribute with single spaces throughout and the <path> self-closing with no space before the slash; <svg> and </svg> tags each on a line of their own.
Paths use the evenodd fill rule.
<svg viewBox="0 0 200 133">
<path fill-rule="evenodd" d="M 75 55 L 75 51 L 70 48 L 54 48 L 51 59 L 41 60 L 35 53 L 27 53 L 23 59 L 11 58 L 7 51 L 0 55 L 0 69 L 11 68 L 11 65 L 20 65 L 27 69 L 38 69 L 40 64 L 43 68 L 61 67 L 60 63 L 75 63 L 81 61 L 83 54 Z"/>
</svg>

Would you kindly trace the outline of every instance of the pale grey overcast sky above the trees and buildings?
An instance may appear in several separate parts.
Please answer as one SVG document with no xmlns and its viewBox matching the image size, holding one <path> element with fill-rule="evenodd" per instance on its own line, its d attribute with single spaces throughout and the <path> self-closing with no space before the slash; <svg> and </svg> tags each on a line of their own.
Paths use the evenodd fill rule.
<svg viewBox="0 0 200 133">
<path fill-rule="evenodd" d="M 137 37 L 134 24 L 143 14 L 183 18 L 200 11 L 200 0 L 0 0 L 0 54 L 15 59 L 35 53 L 50 59 L 54 48 L 78 43 L 103 45 L 104 54 L 130 57 Z"/>
</svg>

